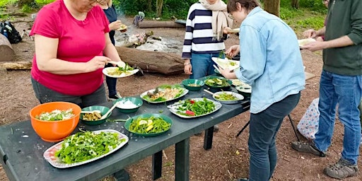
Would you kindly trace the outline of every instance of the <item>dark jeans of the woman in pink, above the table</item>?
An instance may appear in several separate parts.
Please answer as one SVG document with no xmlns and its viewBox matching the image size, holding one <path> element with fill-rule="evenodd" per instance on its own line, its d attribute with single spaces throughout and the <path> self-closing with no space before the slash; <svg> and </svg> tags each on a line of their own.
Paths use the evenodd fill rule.
<svg viewBox="0 0 362 181">
<path fill-rule="evenodd" d="M 80 107 L 88 107 L 91 105 L 99 105 L 107 102 L 105 97 L 105 86 L 102 84 L 94 93 L 88 95 L 66 95 L 53 91 L 39 82 L 35 81 L 34 78 L 31 78 L 31 83 L 33 84 L 33 89 L 35 92 L 35 97 L 40 101 L 40 103 L 49 103 L 55 101 L 64 101 L 69 103 L 74 103 Z"/>
</svg>

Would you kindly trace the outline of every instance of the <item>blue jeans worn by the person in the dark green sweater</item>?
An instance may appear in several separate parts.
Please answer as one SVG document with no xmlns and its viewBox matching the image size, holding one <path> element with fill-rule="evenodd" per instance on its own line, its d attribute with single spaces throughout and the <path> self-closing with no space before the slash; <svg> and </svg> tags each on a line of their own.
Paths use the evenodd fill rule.
<svg viewBox="0 0 362 181">
<path fill-rule="evenodd" d="M 344 124 L 343 151 L 341 157 L 352 165 L 357 164 L 361 140 L 361 122 L 358 105 L 361 103 L 362 82 L 360 76 L 341 76 L 322 71 L 320 76 L 320 121 L 315 134 L 315 146 L 327 151 L 331 144 L 338 103 L 338 117 Z"/>
</svg>

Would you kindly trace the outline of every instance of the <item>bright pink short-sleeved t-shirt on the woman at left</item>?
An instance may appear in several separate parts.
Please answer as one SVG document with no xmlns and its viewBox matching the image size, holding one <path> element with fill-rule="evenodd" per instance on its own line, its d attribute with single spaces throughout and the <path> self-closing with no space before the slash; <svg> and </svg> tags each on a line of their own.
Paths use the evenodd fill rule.
<svg viewBox="0 0 362 181">
<path fill-rule="evenodd" d="M 57 58 L 69 62 L 88 62 L 102 56 L 105 33 L 110 32 L 108 20 L 100 6 L 88 12 L 84 21 L 78 21 L 69 13 L 63 0 L 44 6 L 39 13 L 30 35 L 58 38 Z M 102 69 L 97 71 L 57 75 L 37 69 L 34 55 L 31 75 L 43 86 L 66 95 L 88 95 L 103 83 Z"/>
</svg>

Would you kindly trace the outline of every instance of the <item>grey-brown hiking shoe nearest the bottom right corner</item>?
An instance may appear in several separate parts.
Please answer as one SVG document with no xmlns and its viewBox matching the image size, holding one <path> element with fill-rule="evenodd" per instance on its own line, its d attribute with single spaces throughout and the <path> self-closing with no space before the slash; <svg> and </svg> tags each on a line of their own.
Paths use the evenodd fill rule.
<svg viewBox="0 0 362 181">
<path fill-rule="evenodd" d="M 324 173 L 329 177 L 344 179 L 345 177 L 356 176 L 358 174 L 358 166 L 351 165 L 347 160 L 340 158 L 336 164 L 325 168 Z"/>
</svg>

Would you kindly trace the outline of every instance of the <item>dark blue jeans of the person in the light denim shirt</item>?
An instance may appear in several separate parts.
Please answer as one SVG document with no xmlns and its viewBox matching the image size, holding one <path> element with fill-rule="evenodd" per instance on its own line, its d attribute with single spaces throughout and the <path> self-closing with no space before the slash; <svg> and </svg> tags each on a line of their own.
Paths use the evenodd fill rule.
<svg viewBox="0 0 362 181">
<path fill-rule="evenodd" d="M 267 181 L 276 166 L 275 137 L 281 122 L 298 104 L 300 93 L 288 95 L 283 100 L 270 105 L 266 110 L 250 114 L 250 181 Z"/>
</svg>

